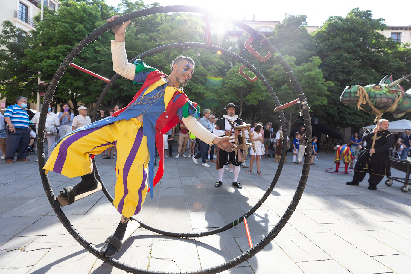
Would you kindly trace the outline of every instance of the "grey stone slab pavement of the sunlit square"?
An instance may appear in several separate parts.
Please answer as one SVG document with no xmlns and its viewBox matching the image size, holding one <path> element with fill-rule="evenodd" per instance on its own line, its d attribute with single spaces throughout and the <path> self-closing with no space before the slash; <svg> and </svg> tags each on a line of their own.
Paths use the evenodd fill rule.
<svg viewBox="0 0 411 274">
<path fill-rule="evenodd" d="M 44 194 L 35 157 L 13 164 L 0 161 L 0 273 L 123 273 L 85 251 L 67 233 Z M 100 174 L 113 195 L 113 162 L 100 158 Z M 248 218 L 253 244 L 279 221 L 296 190 L 302 165 L 291 164 L 291 159 L 289 153 L 274 191 Z M 302 200 L 279 235 L 256 256 L 223 273 L 410 273 L 411 191 L 400 191 L 398 182 L 391 187 L 382 182 L 376 191 L 368 190 L 366 181 L 359 187 L 347 186 L 352 173 L 326 173 L 332 163 L 332 152 L 320 153 Z M 272 158 L 262 160 L 263 176 L 256 175 L 255 163 L 253 173 L 245 170 L 241 168 L 239 176 L 243 189 L 231 186 L 233 173 L 227 171 L 223 186 L 215 188 L 215 168 L 195 165 L 189 158 L 166 158 L 164 177 L 137 219 L 173 232 L 205 231 L 230 223 L 261 198 L 277 164 Z M 393 174 L 404 176 L 397 170 Z M 78 182 L 55 173 L 50 173 L 50 180 L 55 192 Z M 101 191 L 63 211 L 97 247 L 120 219 Z M 194 239 L 139 228 L 114 257 L 142 269 L 185 272 L 222 264 L 248 249 L 242 223 Z"/>
</svg>

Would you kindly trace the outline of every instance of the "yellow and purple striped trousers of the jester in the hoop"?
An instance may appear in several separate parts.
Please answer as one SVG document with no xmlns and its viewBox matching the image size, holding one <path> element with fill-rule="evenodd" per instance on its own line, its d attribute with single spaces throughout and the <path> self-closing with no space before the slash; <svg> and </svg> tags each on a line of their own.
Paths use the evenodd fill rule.
<svg viewBox="0 0 411 274">
<path fill-rule="evenodd" d="M 65 138 L 55 147 L 43 167 L 69 178 L 86 175 L 92 170 L 90 154 L 100 154 L 117 147 L 114 205 L 129 218 L 141 211 L 148 189 L 149 152 L 143 123 L 132 118 L 102 127 L 86 129 Z"/>
</svg>

